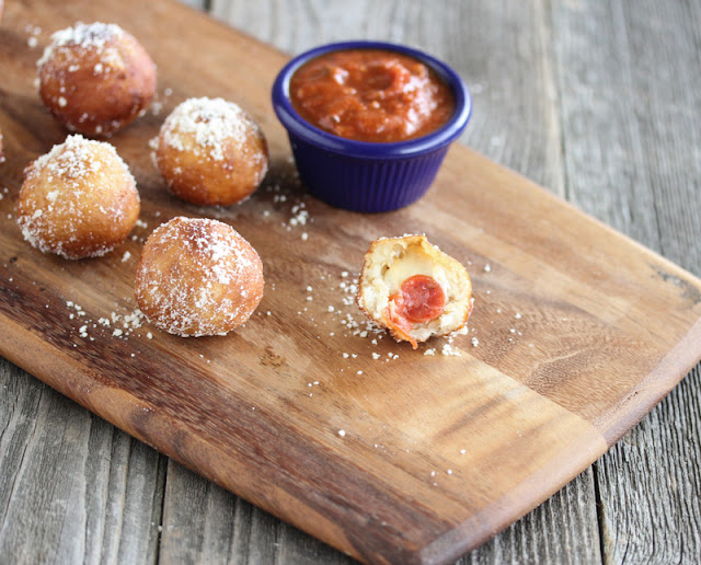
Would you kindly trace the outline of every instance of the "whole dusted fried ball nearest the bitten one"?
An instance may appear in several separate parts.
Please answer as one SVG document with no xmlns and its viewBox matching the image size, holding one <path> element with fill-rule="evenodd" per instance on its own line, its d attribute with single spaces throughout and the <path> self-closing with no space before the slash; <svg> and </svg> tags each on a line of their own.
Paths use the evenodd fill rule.
<svg viewBox="0 0 701 565">
<path fill-rule="evenodd" d="M 143 245 L 135 296 L 152 324 L 183 337 L 223 335 L 263 298 L 263 265 L 231 226 L 173 218 Z"/>
</svg>

